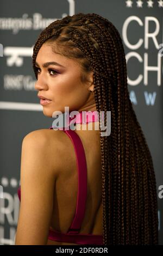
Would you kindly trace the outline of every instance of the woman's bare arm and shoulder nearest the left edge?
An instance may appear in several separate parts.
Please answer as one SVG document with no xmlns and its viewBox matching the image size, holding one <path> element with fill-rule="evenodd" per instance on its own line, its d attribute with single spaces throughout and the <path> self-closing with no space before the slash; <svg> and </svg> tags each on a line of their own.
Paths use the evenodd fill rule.
<svg viewBox="0 0 163 256">
<path fill-rule="evenodd" d="M 53 211 L 55 168 L 49 140 L 41 130 L 24 137 L 21 154 L 21 204 L 15 245 L 46 245 Z M 56 164 L 54 168 L 54 162 Z"/>
</svg>

